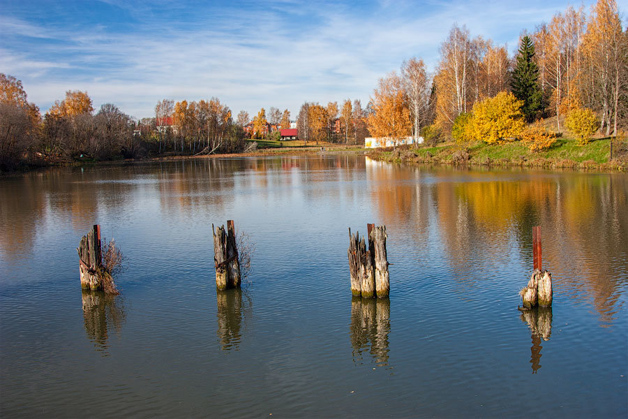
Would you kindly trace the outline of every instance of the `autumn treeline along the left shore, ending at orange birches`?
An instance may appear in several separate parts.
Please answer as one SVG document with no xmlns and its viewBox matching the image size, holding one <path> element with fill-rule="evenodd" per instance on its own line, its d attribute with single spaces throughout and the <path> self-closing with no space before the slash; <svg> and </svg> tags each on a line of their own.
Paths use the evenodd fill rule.
<svg viewBox="0 0 628 419">
<path fill-rule="evenodd" d="M 95 112 L 84 91 L 67 91 L 40 115 L 22 82 L 0 73 L 0 170 L 68 159 L 137 159 L 163 154 L 241 152 L 244 129 L 217 98 L 163 100 L 156 117 L 136 121 L 116 105 Z"/>
</svg>

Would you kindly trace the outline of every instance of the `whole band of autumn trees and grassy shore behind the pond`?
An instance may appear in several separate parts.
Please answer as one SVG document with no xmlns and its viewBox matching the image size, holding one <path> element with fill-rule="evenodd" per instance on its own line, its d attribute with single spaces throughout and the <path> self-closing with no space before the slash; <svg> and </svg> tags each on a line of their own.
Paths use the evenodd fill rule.
<svg viewBox="0 0 628 419">
<path fill-rule="evenodd" d="M 627 131 L 628 29 L 615 0 L 597 0 L 590 10 L 569 6 L 523 30 L 514 56 L 454 24 L 433 73 L 412 57 L 380 78 L 365 107 L 350 98 L 305 101 L 294 120 L 274 107 L 232 115 L 218 98 L 163 99 L 153 116 L 136 119 L 113 103 L 96 111 L 80 90 L 66 91 L 41 115 L 22 82 L 0 73 L 0 173 L 125 159 L 361 151 L 366 137 L 414 139 L 414 146 L 370 152 L 389 161 L 627 170 Z"/>
</svg>

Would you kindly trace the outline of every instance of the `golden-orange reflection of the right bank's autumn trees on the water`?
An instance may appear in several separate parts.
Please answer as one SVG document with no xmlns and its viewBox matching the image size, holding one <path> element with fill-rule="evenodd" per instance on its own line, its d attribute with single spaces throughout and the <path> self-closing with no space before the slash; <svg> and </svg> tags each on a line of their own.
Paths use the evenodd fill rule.
<svg viewBox="0 0 628 419">
<path fill-rule="evenodd" d="M 513 248 L 531 267 L 532 226 L 541 226 L 544 266 L 560 272 L 555 292 L 590 301 L 603 325 L 615 321 L 628 286 L 626 175 L 379 163 L 367 175 L 377 218 L 414 230 L 419 249 L 442 242 L 461 284 L 474 286 L 468 272 L 478 260 L 507 258 Z"/>
</svg>

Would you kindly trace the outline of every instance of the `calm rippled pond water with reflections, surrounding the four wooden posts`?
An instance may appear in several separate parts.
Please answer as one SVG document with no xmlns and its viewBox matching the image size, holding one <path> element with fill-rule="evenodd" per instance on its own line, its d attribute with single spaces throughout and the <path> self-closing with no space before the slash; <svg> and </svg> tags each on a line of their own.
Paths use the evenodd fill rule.
<svg viewBox="0 0 628 419">
<path fill-rule="evenodd" d="M 216 293 L 211 224 L 255 244 Z M 60 168 L 0 179 L 0 416 L 626 417 L 628 176 L 364 156 Z M 352 300 L 347 228 L 388 231 Z M 93 223 L 128 258 L 82 293 Z M 532 226 L 550 311 L 517 311 Z"/>
</svg>

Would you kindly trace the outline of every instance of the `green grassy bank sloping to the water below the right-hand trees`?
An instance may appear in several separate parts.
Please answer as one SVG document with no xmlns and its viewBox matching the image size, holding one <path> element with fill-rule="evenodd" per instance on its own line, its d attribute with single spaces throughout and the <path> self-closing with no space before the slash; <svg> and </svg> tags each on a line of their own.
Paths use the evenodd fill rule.
<svg viewBox="0 0 628 419">
<path fill-rule="evenodd" d="M 373 150 L 369 156 L 374 160 L 409 163 L 628 171 L 628 153 L 619 149 L 620 141 L 614 140 L 611 161 L 610 138 L 600 138 L 592 140 L 588 145 L 578 146 L 576 140 L 562 137 L 558 138 L 551 149 L 537 153 L 530 152 L 528 147 L 515 141 L 504 145 L 479 143 L 466 148 L 453 143 L 437 147 L 404 146 L 397 149 Z M 620 152 L 622 154 L 618 156 Z"/>
</svg>

